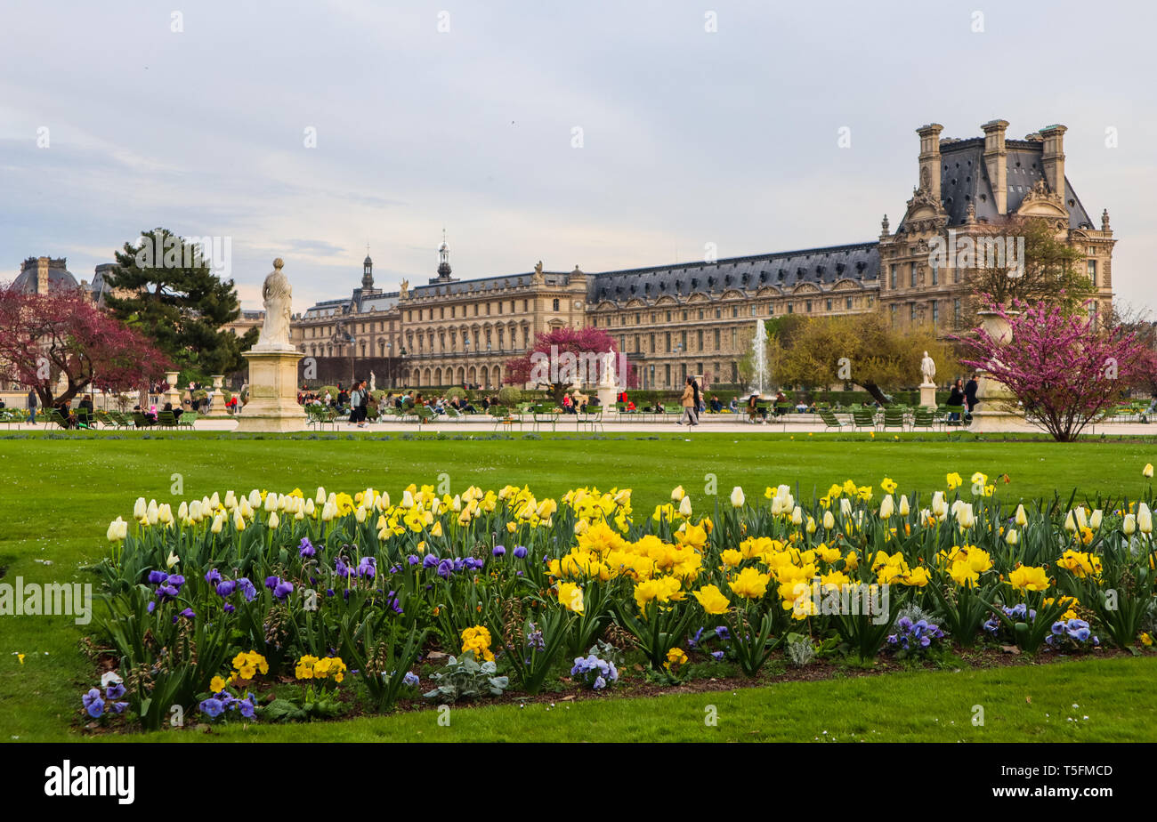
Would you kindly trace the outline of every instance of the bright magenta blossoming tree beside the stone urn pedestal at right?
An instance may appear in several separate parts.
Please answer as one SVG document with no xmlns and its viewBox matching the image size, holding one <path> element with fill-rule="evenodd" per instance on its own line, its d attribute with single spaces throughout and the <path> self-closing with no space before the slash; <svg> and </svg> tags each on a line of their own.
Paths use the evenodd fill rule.
<svg viewBox="0 0 1157 822">
<path fill-rule="evenodd" d="M 1136 333 L 1098 329 L 1086 316 L 1066 314 L 1059 305 L 1015 309 L 1020 313 L 993 309 L 1010 326 L 1007 345 L 983 328 L 956 338 L 965 350 L 960 362 L 1004 385 L 1030 423 L 1071 442 L 1128 393 L 1147 348 Z"/>
</svg>

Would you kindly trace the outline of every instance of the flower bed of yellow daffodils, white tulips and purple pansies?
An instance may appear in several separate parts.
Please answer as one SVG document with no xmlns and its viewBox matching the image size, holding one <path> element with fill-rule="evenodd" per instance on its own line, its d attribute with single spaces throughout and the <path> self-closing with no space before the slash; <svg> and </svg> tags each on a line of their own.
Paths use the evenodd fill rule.
<svg viewBox="0 0 1157 822">
<path fill-rule="evenodd" d="M 848 481 L 811 501 L 779 486 L 754 503 L 736 488 L 694 504 L 677 488 L 642 516 L 628 489 L 594 488 L 139 499 L 100 566 L 115 687 L 83 709 L 159 728 L 560 681 L 606 694 L 628 667 L 673 684 L 697 666 L 758 676 L 773 658 L 1151 643 L 1151 496 L 1026 509 L 979 473 L 946 484 Z"/>
</svg>

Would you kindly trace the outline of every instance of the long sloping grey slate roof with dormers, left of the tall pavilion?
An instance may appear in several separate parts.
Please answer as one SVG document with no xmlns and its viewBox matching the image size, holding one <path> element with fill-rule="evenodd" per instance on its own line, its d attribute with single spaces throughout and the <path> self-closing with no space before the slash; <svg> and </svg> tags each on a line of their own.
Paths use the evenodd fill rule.
<svg viewBox="0 0 1157 822">
<path fill-rule="evenodd" d="M 695 291 L 717 295 L 728 289 L 754 291 L 764 286 L 790 290 L 802 282 L 831 286 L 847 279 L 867 283 L 878 276 L 878 244 L 856 243 L 735 257 L 717 262 L 600 272 L 587 281 L 587 301 L 657 299 L 664 295 L 680 298 Z"/>
</svg>

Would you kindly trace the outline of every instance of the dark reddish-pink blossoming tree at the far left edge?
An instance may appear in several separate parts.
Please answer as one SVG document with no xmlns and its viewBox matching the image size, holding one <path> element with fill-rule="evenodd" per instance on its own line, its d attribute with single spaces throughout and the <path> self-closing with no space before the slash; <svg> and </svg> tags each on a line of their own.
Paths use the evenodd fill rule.
<svg viewBox="0 0 1157 822">
<path fill-rule="evenodd" d="M 27 294 L 0 288 L 0 378 L 36 390 L 42 407 L 93 386 L 126 391 L 156 379 L 168 358 L 79 289 Z M 64 375 L 65 391 L 54 395 Z"/>
</svg>

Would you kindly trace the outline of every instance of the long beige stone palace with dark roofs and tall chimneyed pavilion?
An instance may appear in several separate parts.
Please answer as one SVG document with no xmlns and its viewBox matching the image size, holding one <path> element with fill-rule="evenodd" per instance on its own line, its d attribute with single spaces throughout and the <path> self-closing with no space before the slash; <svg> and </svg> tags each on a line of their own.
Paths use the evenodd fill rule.
<svg viewBox="0 0 1157 822">
<path fill-rule="evenodd" d="M 403 281 L 398 291 L 374 286 L 367 257 L 361 287 L 295 316 L 292 341 L 319 363 L 340 363 L 337 373 L 368 378 L 373 369 L 378 387 L 498 388 L 506 362 L 536 334 L 589 325 L 616 339 L 639 387 L 672 388 L 687 375 L 735 384 L 756 320 L 883 311 L 898 327 L 952 331 L 970 295 L 968 271 L 953 267 L 951 254 L 943 267 L 930 259 L 936 238 L 979 240 L 1012 217 L 1046 220 L 1082 250 L 1092 310 L 1107 312 L 1115 240 L 1107 210 L 1095 227 L 1066 176 L 1066 127 L 1012 140 L 1008 126 L 993 120 L 980 127 L 983 136 L 966 139 L 941 136 L 937 124 L 916 129 L 912 198 L 894 230 L 885 216 L 871 242 L 597 273 L 539 262 L 459 279 L 443 239 L 436 275 L 420 286 Z"/>
</svg>

